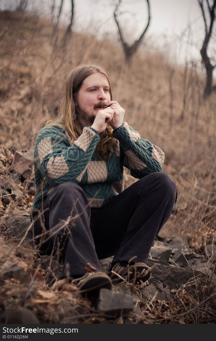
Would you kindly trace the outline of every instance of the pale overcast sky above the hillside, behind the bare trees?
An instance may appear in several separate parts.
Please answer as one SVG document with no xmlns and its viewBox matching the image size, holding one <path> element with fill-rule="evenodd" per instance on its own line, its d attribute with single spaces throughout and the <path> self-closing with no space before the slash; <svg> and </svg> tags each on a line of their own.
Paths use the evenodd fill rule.
<svg viewBox="0 0 216 341">
<path fill-rule="evenodd" d="M 0 0 L 0 8 L 13 8 L 19 1 Z M 28 1 L 31 8 L 32 6 L 35 9 L 40 8 L 41 13 L 48 13 L 54 0 Z M 107 35 L 115 39 L 113 33 L 117 32 L 117 27 L 113 12 L 116 2 L 118 0 L 74 0 L 75 29 L 94 32 L 99 38 Z M 204 38 L 204 23 L 198 0 L 149 0 L 149 2 L 151 20 L 144 45 L 149 50 L 169 52 L 173 59 L 177 58 L 178 63 L 184 63 L 186 59 L 200 60 L 199 50 Z M 55 0 L 55 3 L 58 8 L 60 0 Z M 64 0 L 63 23 L 67 23 L 69 19 L 70 8 L 71 0 Z M 122 0 L 119 11 L 119 22 L 125 39 L 131 43 L 139 38 L 147 23 L 147 3 L 145 0 Z M 214 45 L 216 38 L 212 41 L 211 49 Z"/>
</svg>

